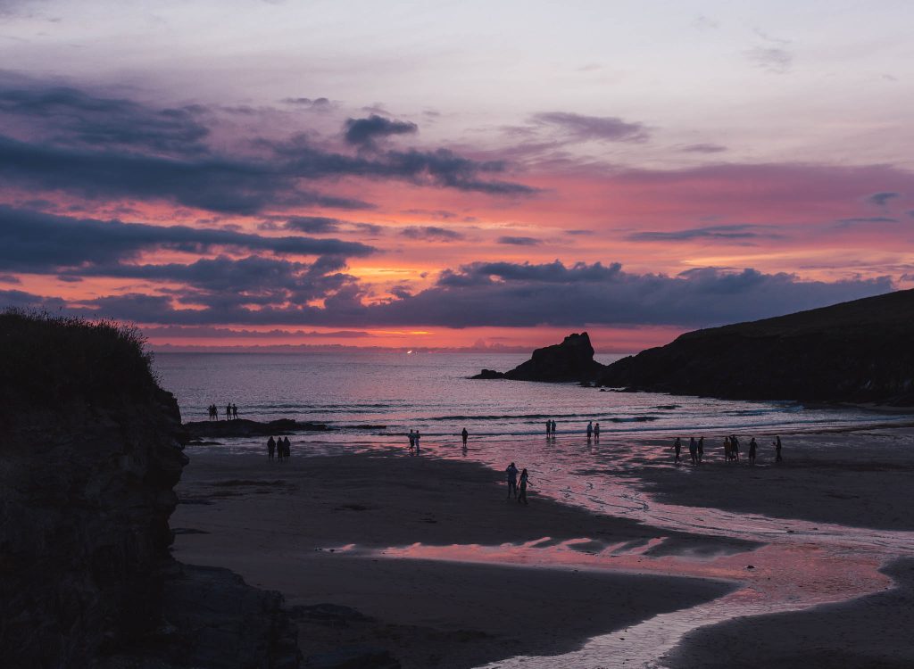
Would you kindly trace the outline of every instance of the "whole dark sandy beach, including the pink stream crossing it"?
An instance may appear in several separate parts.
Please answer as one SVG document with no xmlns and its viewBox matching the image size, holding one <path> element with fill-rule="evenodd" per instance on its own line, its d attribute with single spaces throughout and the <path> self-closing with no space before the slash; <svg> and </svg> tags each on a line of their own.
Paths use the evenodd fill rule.
<svg viewBox="0 0 914 669">
<path fill-rule="evenodd" d="M 638 504 L 612 514 L 550 499 L 535 477 L 528 506 L 507 501 L 504 474 L 434 451 L 296 445 L 281 464 L 188 449 L 175 557 L 280 590 L 313 659 L 369 646 L 404 667 L 827 667 L 853 644 L 841 666 L 909 666 L 914 644 L 885 639 L 910 615 L 909 563 L 888 563 L 914 555 L 898 531 L 911 443 L 791 435 L 779 466 L 708 452 L 697 469 L 665 441 L 629 444 L 606 475 Z M 835 619 L 858 632 L 845 645 Z"/>
</svg>

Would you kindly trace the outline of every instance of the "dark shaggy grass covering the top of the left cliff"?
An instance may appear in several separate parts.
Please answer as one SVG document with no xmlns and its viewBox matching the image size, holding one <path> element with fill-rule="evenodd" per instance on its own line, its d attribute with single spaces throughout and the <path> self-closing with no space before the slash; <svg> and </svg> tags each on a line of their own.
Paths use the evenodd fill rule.
<svg viewBox="0 0 914 669">
<path fill-rule="evenodd" d="M 152 356 L 136 328 L 42 312 L 0 312 L 0 402 L 54 406 L 71 400 L 148 397 Z"/>
</svg>

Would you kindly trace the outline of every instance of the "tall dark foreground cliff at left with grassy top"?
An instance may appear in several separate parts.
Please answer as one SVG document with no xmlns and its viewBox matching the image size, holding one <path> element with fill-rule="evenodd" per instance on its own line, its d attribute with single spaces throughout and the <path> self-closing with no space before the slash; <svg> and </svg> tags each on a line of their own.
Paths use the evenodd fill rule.
<svg viewBox="0 0 914 669">
<path fill-rule="evenodd" d="M 170 556 L 181 416 L 142 340 L 117 324 L 6 312 L 0 346 L 2 664 L 294 665 L 274 661 L 297 653 L 278 595 Z M 257 648 L 245 664 L 231 643 L 220 651 L 200 632 L 213 625 L 191 604 L 218 594 L 216 580 L 266 621 L 236 625 Z"/>
</svg>

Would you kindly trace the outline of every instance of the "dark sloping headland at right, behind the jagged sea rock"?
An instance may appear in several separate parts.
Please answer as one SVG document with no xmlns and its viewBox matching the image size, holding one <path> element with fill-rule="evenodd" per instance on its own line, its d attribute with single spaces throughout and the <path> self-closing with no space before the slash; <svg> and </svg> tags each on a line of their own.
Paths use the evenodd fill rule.
<svg viewBox="0 0 914 669">
<path fill-rule="evenodd" d="M 914 405 L 914 291 L 696 330 L 622 358 L 600 385 L 731 399 Z"/>
</svg>

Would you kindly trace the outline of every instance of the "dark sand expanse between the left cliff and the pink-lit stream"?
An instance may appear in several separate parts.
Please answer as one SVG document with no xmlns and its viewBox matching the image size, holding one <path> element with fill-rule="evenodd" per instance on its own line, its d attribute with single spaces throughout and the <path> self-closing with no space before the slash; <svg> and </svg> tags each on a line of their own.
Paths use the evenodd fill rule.
<svg viewBox="0 0 914 669">
<path fill-rule="evenodd" d="M 473 462 L 352 454 L 280 465 L 257 456 L 190 456 L 172 518 L 176 558 L 230 568 L 252 585 L 282 591 L 290 606 L 332 603 L 372 619 L 328 625 L 305 617 L 306 655 L 367 643 L 387 648 L 404 667 L 471 667 L 567 653 L 595 635 L 735 587 L 550 564 L 547 554 L 500 566 L 385 557 L 382 549 L 551 546 L 591 537 L 638 560 L 661 537 L 668 537 L 667 552 L 732 555 L 756 546 L 593 515 L 532 490 L 529 506 L 506 501 L 501 477 Z"/>
</svg>

